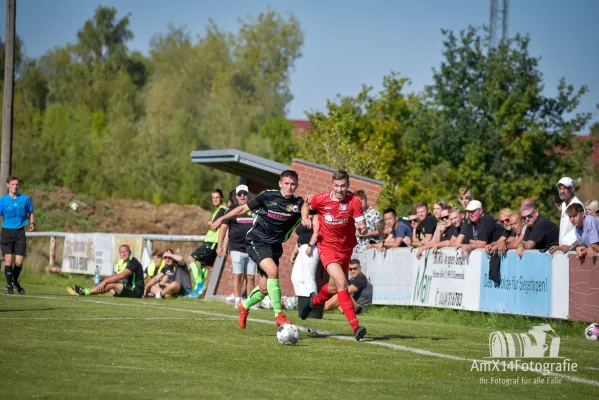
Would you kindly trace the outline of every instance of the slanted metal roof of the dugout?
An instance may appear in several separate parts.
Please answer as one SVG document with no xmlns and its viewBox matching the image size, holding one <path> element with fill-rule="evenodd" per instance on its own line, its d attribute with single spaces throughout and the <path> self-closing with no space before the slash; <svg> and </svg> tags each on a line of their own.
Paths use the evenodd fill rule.
<svg viewBox="0 0 599 400">
<path fill-rule="evenodd" d="M 281 172 L 291 169 L 288 165 L 235 149 L 192 151 L 191 162 L 272 187 L 276 187 Z"/>
</svg>

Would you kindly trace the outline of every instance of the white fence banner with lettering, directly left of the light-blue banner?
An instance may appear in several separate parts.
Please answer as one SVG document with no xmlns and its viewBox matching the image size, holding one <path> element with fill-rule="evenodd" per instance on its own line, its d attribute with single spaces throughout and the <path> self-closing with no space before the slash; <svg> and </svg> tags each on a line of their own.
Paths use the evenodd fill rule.
<svg viewBox="0 0 599 400">
<path fill-rule="evenodd" d="M 415 262 L 412 305 L 478 310 L 481 254 L 469 257 L 455 248 L 426 251 Z"/>
</svg>

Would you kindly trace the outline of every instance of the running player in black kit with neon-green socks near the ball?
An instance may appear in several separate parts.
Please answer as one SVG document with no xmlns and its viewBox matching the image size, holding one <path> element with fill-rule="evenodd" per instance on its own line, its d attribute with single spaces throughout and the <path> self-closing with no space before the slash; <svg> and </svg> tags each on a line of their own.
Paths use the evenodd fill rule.
<svg viewBox="0 0 599 400">
<path fill-rule="evenodd" d="M 297 186 L 297 172 L 283 171 L 279 178 L 280 190 L 265 190 L 212 224 L 212 229 L 216 229 L 225 219 L 243 215 L 248 210 L 257 210 L 254 226 L 248 232 L 245 243 L 250 258 L 258 264 L 262 279 L 250 296 L 239 303 L 241 329 L 245 328 L 250 307 L 261 302 L 266 295 L 270 297 L 277 326 L 291 323 L 281 309 L 279 259 L 283 255 L 283 242 L 289 239 L 301 220 L 304 200 L 294 196 Z"/>
</svg>

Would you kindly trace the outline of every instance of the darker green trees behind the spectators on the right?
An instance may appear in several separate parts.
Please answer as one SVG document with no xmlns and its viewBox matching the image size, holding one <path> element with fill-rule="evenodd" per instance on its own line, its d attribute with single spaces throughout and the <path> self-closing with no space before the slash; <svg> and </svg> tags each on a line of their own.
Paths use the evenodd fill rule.
<svg viewBox="0 0 599 400">
<path fill-rule="evenodd" d="M 444 35 L 444 60 L 425 93 L 404 94 L 409 81 L 392 73 L 376 95 L 363 88 L 330 102 L 326 114 L 310 115 L 315 130 L 301 156 L 384 180 L 377 207 L 404 214 L 419 201 L 457 204 L 460 186 L 489 211 L 534 197 L 554 213 L 559 177 L 588 173 L 580 160 L 591 144 L 575 136 L 590 119 L 575 114 L 586 86 L 562 79 L 556 97 L 543 95 L 527 37 L 486 49 L 475 28 Z"/>
</svg>

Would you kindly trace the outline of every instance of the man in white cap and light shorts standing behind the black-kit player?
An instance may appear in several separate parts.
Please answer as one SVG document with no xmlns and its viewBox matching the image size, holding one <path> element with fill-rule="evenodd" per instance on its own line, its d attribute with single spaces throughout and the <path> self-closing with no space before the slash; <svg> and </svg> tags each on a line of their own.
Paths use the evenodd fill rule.
<svg viewBox="0 0 599 400">
<path fill-rule="evenodd" d="M 246 185 L 239 185 L 235 188 L 235 197 L 237 204 L 229 207 L 227 212 L 234 208 L 247 204 L 249 200 L 249 189 Z M 229 254 L 231 255 L 231 263 L 233 264 L 233 293 L 235 294 L 234 307 L 239 307 L 239 302 L 242 300 L 241 295 L 244 292 L 242 287 L 243 277 L 246 278 L 247 293 L 251 293 L 256 286 L 256 263 L 250 259 L 245 246 L 245 237 L 252 226 L 256 213 L 248 210 L 243 215 L 238 215 L 231 219 L 226 219 L 222 222 L 220 232 L 218 233 L 218 246 L 216 253 L 222 256 L 227 250 L 227 241 Z M 228 240 L 227 240 L 228 239 Z"/>
</svg>

